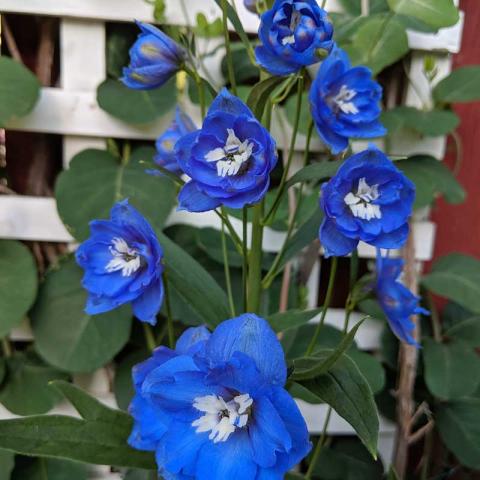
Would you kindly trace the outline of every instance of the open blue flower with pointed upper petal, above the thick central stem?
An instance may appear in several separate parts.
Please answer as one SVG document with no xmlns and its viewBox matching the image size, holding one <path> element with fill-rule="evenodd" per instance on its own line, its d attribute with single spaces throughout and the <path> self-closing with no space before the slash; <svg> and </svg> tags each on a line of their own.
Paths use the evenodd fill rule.
<svg viewBox="0 0 480 480">
<path fill-rule="evenodd" d="M 175 146 L 180 168 L 192 179 L 180 191 L 179 209 L 242 208 L 259 202 L 277 163 L 275 141 L 237 97 L 223 89 L 201 130 Z"/>
</svg>

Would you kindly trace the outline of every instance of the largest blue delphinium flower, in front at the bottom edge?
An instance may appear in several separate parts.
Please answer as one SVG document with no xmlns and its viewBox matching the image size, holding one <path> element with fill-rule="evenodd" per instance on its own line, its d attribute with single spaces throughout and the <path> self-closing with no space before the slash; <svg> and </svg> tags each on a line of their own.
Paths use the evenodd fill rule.
<svg viewBox="0 0 480 480">
<path fill-rule="evenodd" d="M 191 328 L 134 368 L 129 443 L 155 451 L 167 480 L 280 480 L 311 448 L 286 377 L 282 347 L 256 315 L 211 335 Z"/>
</svg>

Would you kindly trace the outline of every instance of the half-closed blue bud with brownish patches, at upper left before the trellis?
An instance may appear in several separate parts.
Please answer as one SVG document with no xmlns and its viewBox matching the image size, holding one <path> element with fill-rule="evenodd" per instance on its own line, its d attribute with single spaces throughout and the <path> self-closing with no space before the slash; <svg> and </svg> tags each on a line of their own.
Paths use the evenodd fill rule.
<svg viewBox="0 0 480 480">
<path fill-rule="evenodd" d="M 137 25 L 141 33 L 130 49 L 130 65 L 123 69 L 121 80 L 137 90 L 161 87 L 181 69 L 186 52 L 153 25 Z"/>
</svg>

